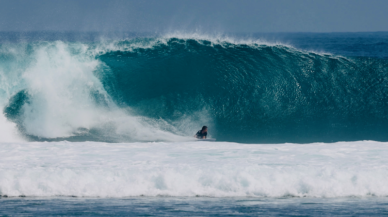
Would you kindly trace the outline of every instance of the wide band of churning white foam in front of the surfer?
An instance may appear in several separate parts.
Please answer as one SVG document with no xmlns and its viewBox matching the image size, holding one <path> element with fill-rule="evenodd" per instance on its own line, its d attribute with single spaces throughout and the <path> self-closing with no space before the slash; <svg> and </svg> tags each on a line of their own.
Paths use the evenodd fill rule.
<svg viewBox="0 0 388 217">
<path fill-rule="evenodd" d="M 0 143 L 7 196 L 388 196 L 388 143 Z"/>
</svg>

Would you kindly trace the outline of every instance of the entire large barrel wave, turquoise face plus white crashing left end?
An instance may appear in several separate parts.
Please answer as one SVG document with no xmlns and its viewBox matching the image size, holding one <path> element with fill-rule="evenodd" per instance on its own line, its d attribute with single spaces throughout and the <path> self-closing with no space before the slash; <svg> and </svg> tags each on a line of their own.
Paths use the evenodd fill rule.
<svg viewBox="0 0 388 217">
<path fill-rule="evenodd" d="M 174 36 L 0 58 L 4 117 L 29 140 L 175 141 L 207 125 L 222 141 L 387 141 L 385 59 Z"/>
</svg>

